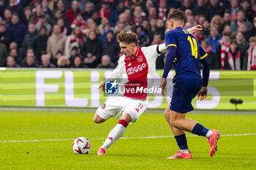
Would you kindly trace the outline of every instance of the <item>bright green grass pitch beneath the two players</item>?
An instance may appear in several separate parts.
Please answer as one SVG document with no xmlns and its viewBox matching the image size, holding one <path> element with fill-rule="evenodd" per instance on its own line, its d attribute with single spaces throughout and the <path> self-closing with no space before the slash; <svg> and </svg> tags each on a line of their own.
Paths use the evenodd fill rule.
<svg viewBox="0 0 256 170">
<path fill-rule="evenodd" d="M 217 155 L 209 156 L 204 137 L 187 134 L 193 159 L 167 160 L 178 147 L 161 112 L 144 113 L 128 126 L 126 139 L 97 156 L 117 120 L 95 124 L 93 112 L 1 111 L 0 169 L 256 169 L 256 115 L 224 112 L 187 115 L 221 131 Z M 79 136 L 90 139 L 89 155 L 72 152 L 72 141 Z"/>
</svg>

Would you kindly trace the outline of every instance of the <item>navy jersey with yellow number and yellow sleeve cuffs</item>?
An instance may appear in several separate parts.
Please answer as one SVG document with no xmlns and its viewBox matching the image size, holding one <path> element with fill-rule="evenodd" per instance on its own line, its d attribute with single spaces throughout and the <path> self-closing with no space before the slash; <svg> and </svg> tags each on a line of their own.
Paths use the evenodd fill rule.
<svg viewBox="0 0 256 170">
<path fill-rule="evenodd" d="M 175 28 L 165 35 L 166 47 L 176 47 L 176 58 L 173 61 L 176 77 L 182 79 L 201 79 L 200 60 L 206 58 L 207 53 L 200 47 L 193 34 L 185 28 Z"/>
</svg>

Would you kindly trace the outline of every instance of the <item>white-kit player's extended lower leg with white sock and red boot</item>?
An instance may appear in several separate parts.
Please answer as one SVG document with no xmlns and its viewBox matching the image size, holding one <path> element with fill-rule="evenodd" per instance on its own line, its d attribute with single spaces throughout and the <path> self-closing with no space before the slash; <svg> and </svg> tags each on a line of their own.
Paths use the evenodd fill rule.
<svg viewBox="0 0 256 170">
<path fill-rule="evenodd" d="M 123 136 L 127 125 L 132 121 L 132 117 L 129 113 L 125 113 L 122 115 L 120 120 L 118 120 L 118 124 L 110 131 L 108 134 L 108 138 L 105 140 L 104 144 L 99 147 L 97 155 L 105 155 L 106 150 L 115 143 L 121 136 Z"/>
</svg>

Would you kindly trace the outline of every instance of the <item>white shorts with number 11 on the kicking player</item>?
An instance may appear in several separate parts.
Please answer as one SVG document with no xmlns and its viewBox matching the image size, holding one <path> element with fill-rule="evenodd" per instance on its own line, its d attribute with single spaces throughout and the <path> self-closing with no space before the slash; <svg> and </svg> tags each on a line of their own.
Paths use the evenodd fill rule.
<svg viewBox="0 0 256 170">
<path fill-rule="evenodd" d="M 146 111 L 147 103 L 147 100 L 140 100 L 139 98 L 111 96 L 97 109 L 96 113 L 105 120 L 110 117 L 118 119 L 121 113 L 128 113 L 132 117 L 132 123 L 135 123 L 140 115 Z"/>
</svg>

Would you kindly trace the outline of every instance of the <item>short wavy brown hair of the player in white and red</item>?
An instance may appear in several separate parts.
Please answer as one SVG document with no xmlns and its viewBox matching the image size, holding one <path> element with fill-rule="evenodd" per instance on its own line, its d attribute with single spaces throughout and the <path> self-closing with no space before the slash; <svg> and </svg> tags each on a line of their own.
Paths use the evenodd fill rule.
<svg viewBox="0 0 256 170">
<path fill-rule="evenodd" d="M 139 43 L 138 36 L 136 36 L 136 34 L 131 30 L 128 30 L 128 31 L 122 30 L 117 34 L 116 39 L 118 42 L 125 42 L 127 44 L 133 43 L 135 45 L 138 45 Z"/>
</svg>

